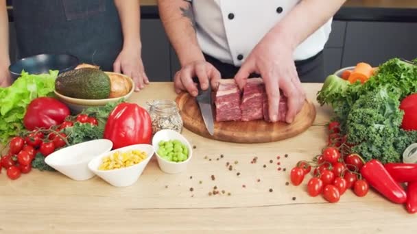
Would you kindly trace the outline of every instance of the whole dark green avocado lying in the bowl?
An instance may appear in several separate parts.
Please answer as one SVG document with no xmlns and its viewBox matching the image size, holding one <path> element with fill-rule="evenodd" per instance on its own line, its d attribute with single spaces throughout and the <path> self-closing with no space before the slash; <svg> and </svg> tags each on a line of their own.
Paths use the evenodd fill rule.
<svg viewBox="0 0 417 234">
<path fill-rule="evenodd" d="M 108 99 L 110 88 L 108 75 L 96 68 L 69 70 L 55 81 L 56 92 L 75 99 Z"/>
</svg>

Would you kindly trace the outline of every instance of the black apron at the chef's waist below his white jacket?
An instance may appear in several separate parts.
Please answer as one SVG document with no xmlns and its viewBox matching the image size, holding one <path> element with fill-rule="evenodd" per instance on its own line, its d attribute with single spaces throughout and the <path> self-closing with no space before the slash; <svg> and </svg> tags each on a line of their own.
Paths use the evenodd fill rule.
<svg viewBox="0 0 417 234">
<path fill-rule="evenodd" d="M 215 57 L 204 54 L 206 61 L 213 64 L 224 78 L 233 78 L 239 71 L 239 67 L 221 62 Z M 322 51 L 307 60 L 296 61 L 298 77 L 303 83 L 324 82 L 324 59 Z M 258 74 L 251 74 L 249 78 L 260 77 Z"/>
</svg>

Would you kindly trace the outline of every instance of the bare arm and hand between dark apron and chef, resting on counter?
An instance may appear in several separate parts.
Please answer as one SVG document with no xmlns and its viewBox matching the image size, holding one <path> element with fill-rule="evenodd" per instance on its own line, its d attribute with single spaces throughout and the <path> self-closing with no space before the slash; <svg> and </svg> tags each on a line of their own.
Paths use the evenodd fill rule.
<svg viewBox="0 0 417 234">
<path fill-rule="evenodd" d="M 140 3 L 139 0 L 115 0 L 115 5 L 123 31 L 123 49 L 113 64 L 113 70 L 132 77 L 137 91 L 149 83 L 141 58 Z"/>
</svg>

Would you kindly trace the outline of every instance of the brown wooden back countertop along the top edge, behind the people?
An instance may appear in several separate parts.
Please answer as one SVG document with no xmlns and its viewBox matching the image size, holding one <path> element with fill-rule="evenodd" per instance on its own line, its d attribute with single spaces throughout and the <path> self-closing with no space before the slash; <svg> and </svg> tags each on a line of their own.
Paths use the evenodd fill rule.
<svg viewBox="0 0 417 234">
<path fill-rule="evenodd" d="M 141 5 L 157 5 L 156 0 L 141 0 Z M 415 0 L 347 0 L 344 6 L 359 8 L 417 8 Z"/>
</svg>

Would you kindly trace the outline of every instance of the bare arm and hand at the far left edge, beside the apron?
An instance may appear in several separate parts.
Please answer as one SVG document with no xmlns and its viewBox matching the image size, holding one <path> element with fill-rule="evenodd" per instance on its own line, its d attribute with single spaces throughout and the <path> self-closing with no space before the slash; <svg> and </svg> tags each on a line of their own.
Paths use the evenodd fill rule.
<svg viewBox="0 0 417 234">
<path fill-rule="evenodd" d="M 0 0 L 0 87 L 10 86 L 9 20 L 5 0 Z"/>
</svg>

